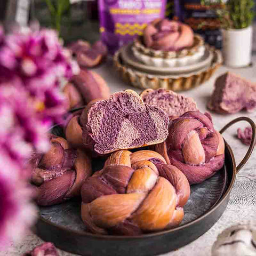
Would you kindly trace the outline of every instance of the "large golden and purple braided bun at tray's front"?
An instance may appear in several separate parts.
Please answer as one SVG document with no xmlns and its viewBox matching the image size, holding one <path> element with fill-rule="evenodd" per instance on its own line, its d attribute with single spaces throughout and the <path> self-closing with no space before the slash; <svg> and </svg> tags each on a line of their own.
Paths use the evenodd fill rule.
<svg viewBox="0 0 256 256">
<path fill-rule="evenodd" d="M 82 187 L 81 214 L 93 233 L 130 235 L 178 226 L 190 195 L 185 175 L 151 150 L 117 151 L 90 179 Z"/>
</svg>

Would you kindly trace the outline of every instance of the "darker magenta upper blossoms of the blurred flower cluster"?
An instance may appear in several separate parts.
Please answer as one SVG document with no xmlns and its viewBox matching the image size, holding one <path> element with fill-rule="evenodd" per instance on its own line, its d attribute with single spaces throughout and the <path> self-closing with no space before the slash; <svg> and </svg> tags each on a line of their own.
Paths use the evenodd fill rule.
<svg viewBox="0 0 256 256">
<path fill-rule="evenodd" d="M 0 29 L 0 86 L 12 83 L 24 87 L 43 119 L 60 121 L 66 109 L 60 79 L 78 72 L 78 65 L 54 30 L 16 31 L 4 36 Z"/>
</svg>

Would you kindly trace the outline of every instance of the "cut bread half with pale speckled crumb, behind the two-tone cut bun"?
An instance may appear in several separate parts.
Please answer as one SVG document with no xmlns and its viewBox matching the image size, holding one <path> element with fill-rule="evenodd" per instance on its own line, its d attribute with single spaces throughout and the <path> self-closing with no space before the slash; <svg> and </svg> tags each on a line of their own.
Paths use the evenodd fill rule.
<svg viewBox="0 0 256 256">
<path fill-rule="evenodd" d="M 196 102 L 192 98 L 187 98 L 170 90 L 147 89 L 141 93 L 144 103 L 157 106 L 165 111 L 169 117 L 179 117 L 187 111 L 196 111 Z"/>
</svg>

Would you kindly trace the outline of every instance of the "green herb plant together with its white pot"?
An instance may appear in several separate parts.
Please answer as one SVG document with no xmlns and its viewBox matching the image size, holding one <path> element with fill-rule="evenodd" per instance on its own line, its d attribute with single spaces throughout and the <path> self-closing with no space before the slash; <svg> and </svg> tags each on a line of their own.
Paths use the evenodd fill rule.
<svg viewBox="0 0 256 256">
<path fill-rule="evenodd" d="M 205 4 L 209 2 L 204 1 Z M 222 25 L 225 64 L 229 67 L 249 66 L 252 55 L 254 1 L 220 0 L 217 2 L 222 6 L 217 9 L 217 14 Z"/>
</svg>

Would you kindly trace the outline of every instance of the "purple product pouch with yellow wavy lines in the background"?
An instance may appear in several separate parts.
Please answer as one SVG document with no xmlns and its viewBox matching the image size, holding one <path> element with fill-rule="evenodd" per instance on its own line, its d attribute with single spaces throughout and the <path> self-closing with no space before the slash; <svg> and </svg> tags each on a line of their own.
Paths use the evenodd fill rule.
<svg viewBox="0 0 256 256">
<path fill-rule="evenodd" d="M 111 54 L 164 18 L 166 0 L 99 0 L 100 33 Z"/>
</svg>

